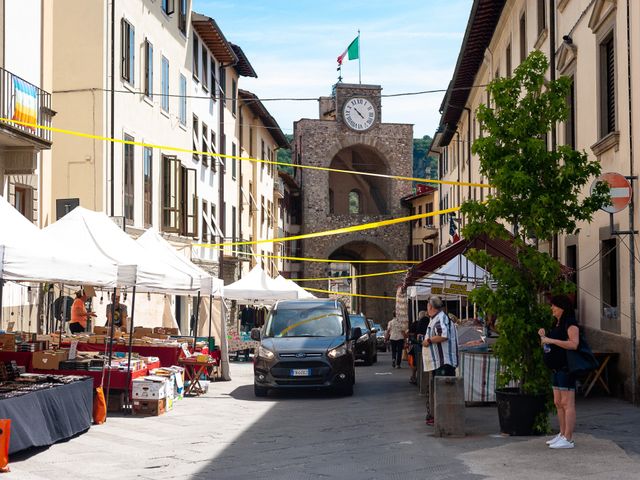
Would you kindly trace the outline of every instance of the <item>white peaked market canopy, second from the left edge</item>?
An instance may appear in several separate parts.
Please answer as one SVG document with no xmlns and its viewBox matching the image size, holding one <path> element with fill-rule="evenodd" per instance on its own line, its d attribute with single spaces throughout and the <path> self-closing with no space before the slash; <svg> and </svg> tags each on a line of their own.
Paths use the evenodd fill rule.
<svg viewBox="0 0 640 480">
<path fill-rule="evenodd" d="M 197 290 L 193 277 L 159 262 L 102 212 L 76 207 L 42 234 L 46 242 L 66 243 L 76 252 L 115 263 L 118 286 L 135 285 L 140 292 L 156 293 Z"/>
</svg>

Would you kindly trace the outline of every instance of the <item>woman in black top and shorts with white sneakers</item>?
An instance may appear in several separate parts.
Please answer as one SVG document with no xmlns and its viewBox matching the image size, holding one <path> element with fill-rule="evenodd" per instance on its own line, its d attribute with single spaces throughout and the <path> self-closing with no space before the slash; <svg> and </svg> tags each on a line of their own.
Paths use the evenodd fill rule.
<svg viewBox="0 0 640 480">
<path fill-rule="evenodd" d="M 544 328 L 538 331 L 543 345 L 549 345 L 547 364 L 553 370 L 553 402 L 558 410 L 560 433 L 547 441 L 550 448 L 573 448 L 573 428 L 576 424 L 576 378 L 569 373 L 567 350 L 576 350 L 580 330 L 573 313 L 571 300 L 565 295 L 551 298 L 551 314 L 555 317 L 553 328 L 546 335 Z"/>
</svg>

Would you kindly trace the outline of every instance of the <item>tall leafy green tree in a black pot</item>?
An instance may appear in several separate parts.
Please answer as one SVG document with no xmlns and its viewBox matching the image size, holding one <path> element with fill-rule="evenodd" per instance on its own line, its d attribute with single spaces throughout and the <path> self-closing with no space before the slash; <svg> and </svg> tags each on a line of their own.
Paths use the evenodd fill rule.
<svg viewBox="0 0 640 480">
<path fill-rule="evenodd" d="M 517 254 L 514 265 L 484 250 L 469 252 L 497 283 L 495 290 L 476 289 L 471 301 L 498 318 L 501 428 L 517 435 L 548 429 L 553 405 L 550 376 L 537 331 L 551 325 L 544 293 L 568 293 L 573 287 L 562 277 L 560 264 L 537 248 L 538 242 L 575 233 L 578 222 L 589 222 L 609 202 L 606 184 L 597 184 L 591 194 L 584 192 L 590 179 L 600 174 L 598 162 L 570 146 L 551 149 L 546 142 L 549 132 L 567 117 L 571 86 L 567 77 L 545 80 L 547 70 L 545 55 L 534 51 L 513 76 L 497 78 L 487 87 L 492 105 L 477 110 L 483 136 L 472 151 L 479 156 L 480 173 L 492 193 L 485 201 L 470 200 L 461 208 L 466 238 L 508 239 Z"/>
</svg>

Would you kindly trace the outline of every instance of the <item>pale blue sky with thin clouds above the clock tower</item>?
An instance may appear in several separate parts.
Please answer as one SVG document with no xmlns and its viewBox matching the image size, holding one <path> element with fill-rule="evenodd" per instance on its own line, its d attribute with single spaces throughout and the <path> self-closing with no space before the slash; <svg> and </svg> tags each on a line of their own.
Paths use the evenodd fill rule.
<svg viewBox="0 0 640 480">
<path fill-rule="evenodd" d="M 193 0 L 242 47 L 258 73 L 240 88 L 260 98 L 318 98 L 336 82 L 336 58 L 360 29 L 362 83 L 383 94 L 446 89 L 472 0 Z M 345 61 L 343 81 L 358 82 L 358 61 Z M 383 99 L 384 122 L 413 123 L 414 137 L 433 136 L 443 93 Z M 316 101 L 265 105 L 285 133 L 317 118 Z"/>
</svg>

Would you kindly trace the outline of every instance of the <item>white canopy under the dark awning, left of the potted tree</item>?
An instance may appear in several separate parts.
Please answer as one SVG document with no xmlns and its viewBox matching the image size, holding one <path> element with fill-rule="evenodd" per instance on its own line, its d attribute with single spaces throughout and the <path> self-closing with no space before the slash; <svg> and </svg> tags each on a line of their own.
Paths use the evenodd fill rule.
<svg viewBox="0 0 640 480">
<path fill-rule="evenodd" d="M 463 254 L 458 254 L 435 272 L 425 275 L 415 281 L 415 285 L 407 287 L 407 297 L 426 299 L 432 293 L 432 287 L 445 288 L 447 285 L 466 284 L 467 290 L 483 283 L 491 283 L 491 274 L 476 265 Z M 438 293 L 440 293 L 438 291 Z M 445 295 L 455 295 L 453 292 Z"/>
</svg>

